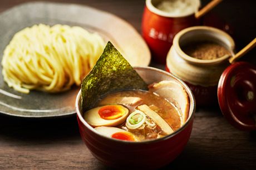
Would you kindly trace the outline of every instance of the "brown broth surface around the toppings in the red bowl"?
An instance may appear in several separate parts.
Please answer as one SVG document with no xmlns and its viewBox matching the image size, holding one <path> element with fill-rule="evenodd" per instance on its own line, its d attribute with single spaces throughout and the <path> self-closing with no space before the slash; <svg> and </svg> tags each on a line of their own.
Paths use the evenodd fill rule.
<svg viewBox="0 0 256 170">
<path fill-rule="evenodd" d="M 150 91 L 127 90 L 107 94 L 106 96 L 102 97 L 98 103 L 98 106 L 118 104 L 121 100 L 124 100 L 124 97 L 126 97 L 126 99 L 127 97 L 139 97 L 141 99 L 139 101 L 133 100 L 135 101 L 134 103 L 123 104 L 125 107 L 127 107 L 127 109 L 129 109 L 129 114 L 134 112 L 137 106 L 147 105 L 151 110 L 159 114 L 169 124 L 169 126 L 173 128 L 174 131 L 181 127 L 182 119 L 178 109 L 168 100 Z M 124 122 L 117 127 L 134 133 L 136 136 L 139 136 L 140 140 L 149 140 L 166 135 L 163 131 L 161 131 L 159 126 L 156 126 L 154 129 L 143 128 L 130 130 L 125 126 Z"/>
</svg>

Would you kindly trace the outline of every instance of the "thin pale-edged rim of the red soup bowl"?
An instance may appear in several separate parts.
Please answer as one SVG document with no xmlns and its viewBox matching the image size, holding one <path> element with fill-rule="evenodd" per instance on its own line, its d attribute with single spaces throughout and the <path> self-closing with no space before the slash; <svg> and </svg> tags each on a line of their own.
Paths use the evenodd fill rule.
<svg viewBox="0 0 256 170">
<path fill-rule="evenodd" d="M 169 138 L 177 135 L 178 133 L 180 133 L 181 131 L 183 131 L 185 129 L 186 126 L 188 126 L 189 122 L 191 120 L 193 120 L 193 116 L 195 113 L 195 98 L 193 93 L 191 92 L 191 90 L 189 89 L 189 87 L 179 78 L 177 78 L 176 76 L 174 76 L 171 73 L 168 73 L 164 70 L 160 70 L 160 69 L 156 69 L 156 68 L 152 68 L 150 66 L 135 66 L 134 69 L 149 69 L 149 70 L 155 70 L 158 71 L 161 74 L 165 74 L 168 76 L 171 76 L 171 78 L 179 81 L 179 83 L 181 85 L 183 85 L 184 89 L 186 90 L 186 92 L 188 93 L 189 96 L 189 100 L 190 100 L 190 108 L 189 108 L 189 117 L 186 120 L 186 122 L 184 123 L 183 126 L 181 126 L 178 130 L 176 130 L 175 132 L 171 133 L 170 135 L 166 135 L 164 137 L 158 138 L 156 140 L 145 140 L 145 141 L 139 141 L 139 142 L 132 142 L 132 141 L 122 141 L 122 140 L 117 140 L 115 138 L 110 138 L 110 137 L 106 137 L 101 135 L 99 132 L 97 132 L 93 127 L 91 127 L 82 117 L 81 112 L 80 112 L 80 101 L 81 101 L 81 89 L 79 90 L 77 96 L 76 96 L 76 112 L 77 112 L 77 116 L 78 119 L 83 123 L 83 125 L 85 125 L 89 130 L 91 130 L 93 133 L 96 133 L 97 135 L 100 135 L 103 138 L 106 138 L 107 140 L 111 140 L 111 141 L 115 141 L 115 142 L 120 142 L 120 143 L 124 143 L 124 144 L 131 144 L 131 145 L 136 145 L 136 144 L 141 144 L 141 143 L 145 143 L 145 144 L 149 144 L 149 143 L 155 143 L 155 142 L 159 142 L 159 141 L 165 141 L 165 140 L 169 140 Z"/>
</svg>

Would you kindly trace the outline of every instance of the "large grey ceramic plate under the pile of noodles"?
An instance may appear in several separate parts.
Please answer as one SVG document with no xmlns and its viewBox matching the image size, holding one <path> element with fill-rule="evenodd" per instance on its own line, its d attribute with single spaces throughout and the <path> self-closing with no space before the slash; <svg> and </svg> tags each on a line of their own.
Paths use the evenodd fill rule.
<svg viewBox="0 0 256 170">
<path fill-rule="evenodd" d="M 61 3 L 25 3 L 0 14 L 0 60 L 13 35 L 34 24 L 78 25 L 97 32 L 121 51 L 133 66 L 147 66 L 150 52 L 139 33 L 124 20 L 86 6 Z M 125 34 L 124 34 L 125 33 Z M 0 66 L 0 72 L 2 66 Z M 59 94 L 14 91 L 0 74 L 0 112 L 21 117 L 56 117 L 75 113 L 75 99 L 80 87 Z"/>
</svg>

